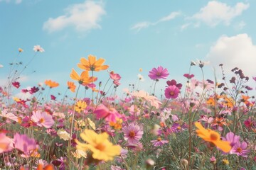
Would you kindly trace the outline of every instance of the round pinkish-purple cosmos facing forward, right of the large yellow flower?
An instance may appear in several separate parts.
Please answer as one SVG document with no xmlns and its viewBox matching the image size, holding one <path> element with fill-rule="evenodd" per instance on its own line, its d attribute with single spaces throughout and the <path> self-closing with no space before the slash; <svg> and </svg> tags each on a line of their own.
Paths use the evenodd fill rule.
<svg viewBox="0 0 256 170">
<path fill-rule="evenodd" d="M 123 129 L 124 140 L 127 140 L 129 144 L 137 144 L 142 139 L 143 130 L 139 125 L 125 126 Z"/>
</svg>

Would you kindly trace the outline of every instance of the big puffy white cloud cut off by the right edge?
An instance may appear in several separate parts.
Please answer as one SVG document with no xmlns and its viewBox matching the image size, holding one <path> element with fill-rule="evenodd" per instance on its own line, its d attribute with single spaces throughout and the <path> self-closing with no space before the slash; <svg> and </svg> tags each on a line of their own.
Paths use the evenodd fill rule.
<svg viewBox="0 0 256 170">
<path fill-rule="evenodd" d="M 256 70 L 256 45 L 252 44 L 252 38 L 246 33 L 232 37 L 221 36 L 215 45 L 210 47 L 210 52 L 206 56 L 214 67 L 223 64 L 226 73 L 238 67 L 242 69 L 245 76 L 255 76 Z"/>
</svg>

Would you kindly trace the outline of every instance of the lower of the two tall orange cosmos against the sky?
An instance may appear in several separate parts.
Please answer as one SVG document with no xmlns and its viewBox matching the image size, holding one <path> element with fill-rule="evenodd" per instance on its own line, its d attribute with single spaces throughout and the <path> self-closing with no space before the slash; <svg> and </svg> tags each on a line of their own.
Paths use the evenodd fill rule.
<svg viewBox="0 0 256 170">
<path fill-rule="evenodd" d="M 71 79 L 78 81 L 79 84 L 90 84 L 97 80 L 97 77 L 89 77 L 89 72 L 86 70 L 79 76 L 78 73 L 75 72 L 75 69 L 72 69 L 70 77 Z"/>
</svg>

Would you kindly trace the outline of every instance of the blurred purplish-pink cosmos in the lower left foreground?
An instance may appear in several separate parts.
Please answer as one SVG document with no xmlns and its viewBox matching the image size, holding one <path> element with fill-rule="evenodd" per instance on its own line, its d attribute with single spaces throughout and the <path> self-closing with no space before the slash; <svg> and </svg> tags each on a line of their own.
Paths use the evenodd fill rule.
<svg viewBox="0 0 256 170">
<path fill-rule="evenodd" d="M 37 149 L 36 140 L 18 133 L 14 135 L 14 147 L 22 152 L 25 157 L 29 157 L 31 152 Z"/>
</svg>

